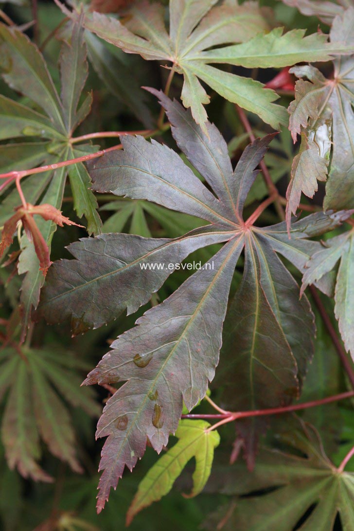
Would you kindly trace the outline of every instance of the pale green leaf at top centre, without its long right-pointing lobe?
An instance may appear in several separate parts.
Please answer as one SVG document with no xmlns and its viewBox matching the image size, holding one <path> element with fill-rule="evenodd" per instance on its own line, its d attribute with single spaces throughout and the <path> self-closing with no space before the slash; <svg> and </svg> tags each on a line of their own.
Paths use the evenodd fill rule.
<svg viewBox="0 0 354 531">
<path fill-rule="evenodd" d="M 198 78 L 223 97 L 260 114 L 273 127 L 278 127 L 279 122 L 287 123 L 284 109 L 271 103 L 277 99 L 275 92 L 263 90 L 261 83 L 251 79 L 246 81 L 235 74 L 226 75 L 206 64 L 210 61 L 204 60 L 200 54 L 203 49 L 228 42 L 242 42 L 267 29 L 255 4 L 215 6 L 210 10 L 213 4 L 171 0 L 170 36 L 165 28 L 161 6 L 144 0 L 133 6 L 132 18 L 125 25 L 98 13 L 87 14 L 84 24 L 88 30 L 125 52 L 141 54 L 148 60 L 174 63 L 176 71 L 184 75 L 184 105 L 191 107 L 193 118 L 201 124 L 204 132 L 207 120 L 204 105 L 209 103 L 210 98 Z M 76 16 L 67 10 L 65 12 L 72 18 Z"/>
</svg>

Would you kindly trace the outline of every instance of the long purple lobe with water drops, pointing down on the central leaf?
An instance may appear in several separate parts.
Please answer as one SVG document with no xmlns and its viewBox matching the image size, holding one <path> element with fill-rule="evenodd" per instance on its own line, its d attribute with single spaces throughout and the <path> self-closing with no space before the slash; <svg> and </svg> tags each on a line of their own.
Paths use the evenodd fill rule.
<svg viewBox="0 0 354 531">
<path fill-rule="evenodd" d="M 241 236 L 231 239 L 210 269 L 194 273 L 114 341 L 114 350 L 85 380 L 128 380 L 107 402 L 97 427 L 97 436 L 109 435 L 100 463 L 98 511 L 125 465 L 132 469 L 142 457 L 146 437 L 160 452 L 177 429 L 182 400 L 190 410 L 204 397 L 218 364 L 229 287 L 242 247 Z"/>
</svg>

